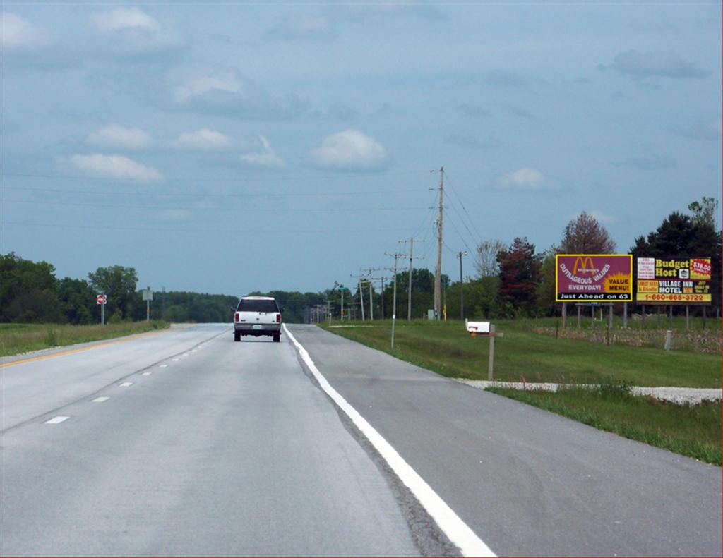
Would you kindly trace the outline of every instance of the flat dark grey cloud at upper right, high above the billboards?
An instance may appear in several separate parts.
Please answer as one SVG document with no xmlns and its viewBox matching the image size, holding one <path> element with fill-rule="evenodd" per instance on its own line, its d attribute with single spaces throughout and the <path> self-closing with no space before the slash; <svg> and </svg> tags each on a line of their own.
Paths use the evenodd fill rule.
<svg viewBox="0 0 723 558">
<path fill-rule="evenodd" d="M 648 77 L 669 77 L 672 79 L 691 79 L 708 76 L 711 72 L 698 68 L 695 62 L 684 60 L 680 55 L 669 51 L 638 53 L 621 52 L 609 66 L 598 66 L 601 70 L 614 69 L 633 80 Z"/>
</svg>

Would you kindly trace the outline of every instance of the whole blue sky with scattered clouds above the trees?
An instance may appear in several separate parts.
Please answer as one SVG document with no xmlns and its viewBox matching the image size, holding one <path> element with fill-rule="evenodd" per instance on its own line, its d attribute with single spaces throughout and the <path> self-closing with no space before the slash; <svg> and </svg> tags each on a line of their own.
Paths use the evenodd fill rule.
<svg viewBox="0 0 723 558">
<path fill-rule="evenodd" d="M 59 278 L 317 292 L 405 239 L 433 271 L 442 167 L 455 280 L 481 241 L 542 252 L 586 211 L 626 253 L 721 197 L 718 1 L 0 12 L 0 252 Z"/>
</svg>

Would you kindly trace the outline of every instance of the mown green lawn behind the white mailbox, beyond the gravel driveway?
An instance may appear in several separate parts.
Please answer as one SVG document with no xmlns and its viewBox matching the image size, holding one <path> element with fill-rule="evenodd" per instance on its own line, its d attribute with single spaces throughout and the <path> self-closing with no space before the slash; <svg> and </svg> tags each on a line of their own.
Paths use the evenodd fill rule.
<svg viewBox="0 0 723 558">
<path fill-rule="evenodd" d="M 338 323 L 337 323 L 338 325 Z M 487 379 L 489 340 L 470 337 L 463 322 L 345 322 L 330 331 L 385 351 L 398 359 L 453 378 Z M 536 332 L 529 322 L 495 322 L 505 337 L 495 342 L 495 379 L 519 382 L 596 384 L 627 382 L 638 386 L 721 387 L 721 354 L 664 351 L 660 348 L 605 345 L 555 338 Z M 322 327 L 328 329 L 328 325 Z"/>
</svg>

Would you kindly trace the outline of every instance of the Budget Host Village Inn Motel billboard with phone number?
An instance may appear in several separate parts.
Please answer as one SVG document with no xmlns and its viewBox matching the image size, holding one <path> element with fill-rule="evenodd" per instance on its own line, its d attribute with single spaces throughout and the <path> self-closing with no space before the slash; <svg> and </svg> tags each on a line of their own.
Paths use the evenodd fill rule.
<svg viewBox="0 0 723 558">
<path fill-rule="evenodd" d="M 638 258 L 636 301 L 711 304 L 709 257 Z"/>
</svg>

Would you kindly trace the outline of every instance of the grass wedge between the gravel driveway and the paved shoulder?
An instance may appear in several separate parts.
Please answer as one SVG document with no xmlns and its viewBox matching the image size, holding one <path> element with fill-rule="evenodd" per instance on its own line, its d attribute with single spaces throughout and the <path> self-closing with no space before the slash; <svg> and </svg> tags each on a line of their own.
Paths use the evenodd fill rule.
<svg viewBox="0 0 723 558">
<path fill-rule="evenodd" d="M 634 396 L 625 383 L 596 389 L 568 386 L 558 392 L 487 390 L 552 411 L 620 436 L 721 465 L 721 403 L 676 405 Z"/>
</svg>

